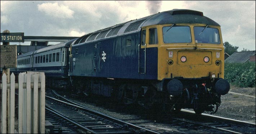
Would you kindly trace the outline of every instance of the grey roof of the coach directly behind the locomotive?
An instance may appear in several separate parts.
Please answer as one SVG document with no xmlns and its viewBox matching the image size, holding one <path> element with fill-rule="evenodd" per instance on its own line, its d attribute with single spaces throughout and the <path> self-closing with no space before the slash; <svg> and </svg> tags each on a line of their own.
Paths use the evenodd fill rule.
<svg viewBox="0 0 256 134">
<path fill-rule="evenodd" d="M 34 54 L 49 51 L 49 50 L 53 50 L 53 49 L 58 49 L 58 48 L 62 48 L 62 47 L 70 47 L 70 44 L 73 43 L 76 39 L 72 39 L 72 40 L 69 40 L 67 42 L 63 42 L 63 43 L 55 44 L 55 45 L 52 45 L 52 46 L 49 46 L 49 47 L 38 49 L 38 50 L 34 51 L 35 52 Z"/>
</svg>

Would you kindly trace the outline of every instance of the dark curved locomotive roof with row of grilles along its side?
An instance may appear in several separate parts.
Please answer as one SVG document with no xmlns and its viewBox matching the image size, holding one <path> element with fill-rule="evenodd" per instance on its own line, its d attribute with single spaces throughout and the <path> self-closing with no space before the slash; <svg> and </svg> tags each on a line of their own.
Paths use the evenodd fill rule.
<svg viewBox="0 0 256 134">
<path fill-rule="evenodd" d="M 108 27 L 102 30 L 98 30 L 93 33 L 85 34 L 78 38 L 74 45 L 84 44 L 85 42 L 94 42 L 100 39 L 113 38 L 120 35 L 135 33 L 140 30 L 141 27 L 158 24 L 177 24 L 177 23 L 198 23 L 220 26 L 203 13 L 195 10 L 188 9 L 173 9 L 169 11 L 163 11 L 161 13 L 146 16 L 144 18 L 127 21 L 125 23 L 117 24 L 112 27 Z"/>
</svg>

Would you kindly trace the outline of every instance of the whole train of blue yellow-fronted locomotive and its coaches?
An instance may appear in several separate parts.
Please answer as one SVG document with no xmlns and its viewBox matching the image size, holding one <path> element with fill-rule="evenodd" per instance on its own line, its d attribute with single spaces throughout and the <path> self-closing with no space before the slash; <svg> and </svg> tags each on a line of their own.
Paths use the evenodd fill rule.
<svg viewBox="0 0 256 134">
<path fill-rule="evenodd" d="M 216 112 L 229 91 L 220 25 L 194 10 L 163 11 L 18 56 L 26 58 L 55 86 L 61 77 L 84 95 L 147 108 L 200 114 L 216 105 Z"/>
</svg>

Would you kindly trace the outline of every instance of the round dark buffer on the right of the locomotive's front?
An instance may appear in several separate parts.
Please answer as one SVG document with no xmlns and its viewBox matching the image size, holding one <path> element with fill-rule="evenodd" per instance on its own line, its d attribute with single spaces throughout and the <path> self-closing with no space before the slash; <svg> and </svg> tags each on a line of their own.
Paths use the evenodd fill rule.
<svg viewBox="0 0 256 134">
<path fill-rule="evenodd" d="M 229 89 L 230 85 L 227 80 L 220 79 L 215 84 L 215 90 L 218 95 L 228 94 Z"/>
</svg>

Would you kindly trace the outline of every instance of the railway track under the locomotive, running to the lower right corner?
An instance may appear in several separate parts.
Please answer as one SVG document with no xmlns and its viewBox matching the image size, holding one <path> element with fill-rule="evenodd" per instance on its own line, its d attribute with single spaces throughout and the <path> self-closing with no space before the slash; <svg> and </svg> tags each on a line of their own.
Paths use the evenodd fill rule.
<svg viewBox="0 0 256 134">
<path fill-rule="evenodd" d="M 62 99 L 66 98 L 62 97 Z M 174 116 L 166 115 L 157 119 L 157 123 L 148 119 L 141 121 L 140 118 L 126 119 L 125 121 L 160 133 L 255 133 L 254 123 L 208 114 L 198 116 L 188 110 L 181 110 L 180 114 Z"/>
</svg>

